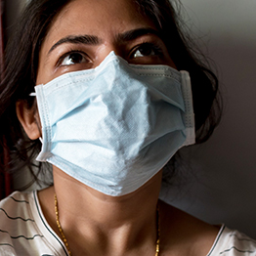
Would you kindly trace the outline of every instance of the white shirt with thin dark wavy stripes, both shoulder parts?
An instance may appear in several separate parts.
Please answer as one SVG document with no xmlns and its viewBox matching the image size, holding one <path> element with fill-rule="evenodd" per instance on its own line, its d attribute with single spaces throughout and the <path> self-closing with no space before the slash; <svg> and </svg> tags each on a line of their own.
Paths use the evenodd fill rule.
<svg viewBox="0 0 256 256">
<path fill-rule="evenodd" d="M 14 192 L 0 202 L 1 256 L 68 256 L 46 222 L 37 192 Z M 221 227 L 207 256 L 256 256 L 256 241 Z"/>
</svg>

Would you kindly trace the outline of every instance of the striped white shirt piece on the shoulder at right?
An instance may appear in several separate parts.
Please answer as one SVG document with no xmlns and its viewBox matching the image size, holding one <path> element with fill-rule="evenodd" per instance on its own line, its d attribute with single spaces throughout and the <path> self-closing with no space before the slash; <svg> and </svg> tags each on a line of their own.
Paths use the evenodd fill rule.
<svg viewBox="0 0 256 256">
<path fill-rule="evenodd" d="M 256 255 L 256 240 L 223 226 L 207 256 L 251 256 Z"/>
</svg>

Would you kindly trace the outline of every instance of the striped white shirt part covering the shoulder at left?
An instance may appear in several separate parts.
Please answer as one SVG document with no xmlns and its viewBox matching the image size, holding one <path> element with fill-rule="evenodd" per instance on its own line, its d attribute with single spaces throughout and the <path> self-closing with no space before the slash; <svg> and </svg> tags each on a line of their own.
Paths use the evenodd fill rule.
<svg viewBox="0 0 256 256">
<path fill-rule="evenodd" d="M 67 256 L 43 215 L 37 192 L 14 192 L 0 201 L 0 255 Z"/>
</svg>

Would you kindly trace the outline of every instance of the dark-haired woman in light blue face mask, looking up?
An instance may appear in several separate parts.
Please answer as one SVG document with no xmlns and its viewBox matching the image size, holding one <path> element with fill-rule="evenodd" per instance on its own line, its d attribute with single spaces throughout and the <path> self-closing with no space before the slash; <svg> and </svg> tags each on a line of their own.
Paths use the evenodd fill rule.
<svg viewBox="0 0 256 256">
<path fill-rule="evenodd" d="M 214 75 L 177 25 L 164 0 L 30 1 L 1 84 L 1 143 L 11 170 L 40 151 L 54 185 L 1 202 L 1 255 L 255 253 L 158 200 L 173 154 L 218 121 Z"/>
</svg>

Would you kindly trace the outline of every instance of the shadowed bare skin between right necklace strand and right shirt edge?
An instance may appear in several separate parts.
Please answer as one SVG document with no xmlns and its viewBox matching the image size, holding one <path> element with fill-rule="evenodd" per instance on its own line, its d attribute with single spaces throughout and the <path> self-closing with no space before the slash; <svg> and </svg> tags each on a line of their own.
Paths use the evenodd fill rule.
<svg viewBox="0 0 256 256">
<path fill-rule="evenodd" d="M 165 243 L 166 255 L 207 255 L 220 228 L 171 205 L 165 204 L 163 210 L 162 241 Z"/>
</svg>

